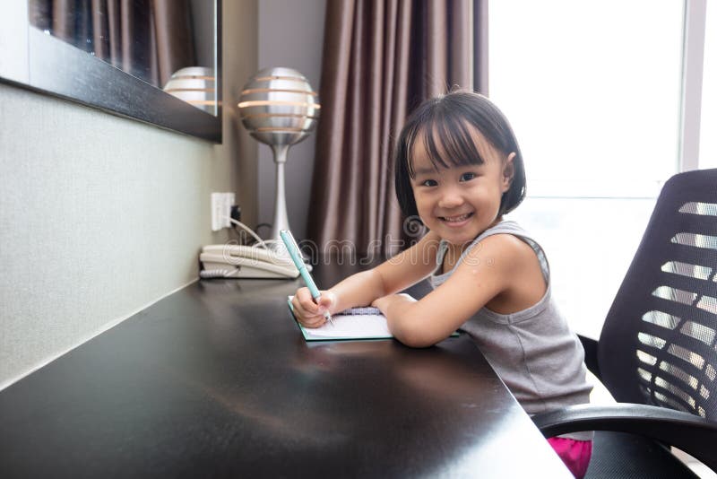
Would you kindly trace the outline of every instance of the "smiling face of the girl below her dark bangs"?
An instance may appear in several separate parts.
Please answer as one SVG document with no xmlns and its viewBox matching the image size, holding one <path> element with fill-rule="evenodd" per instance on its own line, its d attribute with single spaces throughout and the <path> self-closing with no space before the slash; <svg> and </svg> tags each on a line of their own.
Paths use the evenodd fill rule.
<svg viewBox="0 0 717 479">
<path fill-rule="evenodd" d="M 436 168 L 423 142 L 413 145 L 413 196 L 421 221 L 454 246 L 466 247 L 498 219 L 500 199 L 513 180 L 513 159 L 473 135 L 483 164 Z M 450 164 L 450 159 L 444 159 Z"/>
</svg>

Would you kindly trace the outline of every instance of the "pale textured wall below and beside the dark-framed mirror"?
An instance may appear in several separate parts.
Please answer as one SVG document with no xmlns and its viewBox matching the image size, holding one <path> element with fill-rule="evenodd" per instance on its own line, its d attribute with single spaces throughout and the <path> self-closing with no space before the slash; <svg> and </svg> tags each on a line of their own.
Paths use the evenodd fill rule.
<svg viewBox="0 0 717 479">
<path fill-rule="evenodd" d="M 193 282 L 210 194 L 255 222 L 256 143 L 238 123 L 256 0 L 223 8 L 223 143 L 0 83 L 0 388 Z M 2 55 L 2 52 L 0 52 Z"/>
</svg>

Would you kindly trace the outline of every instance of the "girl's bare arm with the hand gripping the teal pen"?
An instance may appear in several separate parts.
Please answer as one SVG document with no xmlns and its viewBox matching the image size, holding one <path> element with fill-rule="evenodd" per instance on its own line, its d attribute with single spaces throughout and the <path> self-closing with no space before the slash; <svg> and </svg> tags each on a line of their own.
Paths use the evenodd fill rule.
<svg viewBox="0 0 717 479">
<path fill-rule="evenodd" d="M 428 234 L 412 247 L 373 269 L 352 274 L 325 292 L 315 304 L 307 288 L 300 288 L 292 305 L 299 322 L 307 327 L 324 324 L 324 310 L 334 314 L 354 306 L 366 306 L 373 300 L 400 292 L 436 269 L 440 240 Z"/>
</svg>

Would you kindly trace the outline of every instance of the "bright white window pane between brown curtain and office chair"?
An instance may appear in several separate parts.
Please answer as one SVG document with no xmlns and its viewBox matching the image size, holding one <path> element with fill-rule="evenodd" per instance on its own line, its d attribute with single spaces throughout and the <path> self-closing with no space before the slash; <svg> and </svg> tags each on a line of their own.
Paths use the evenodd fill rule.
<svg viewBox="0 0 717 479">
<path fill-rule="evenodd" d="M 597 337 L 662 182 L 678 170 L 683 2 L 495 0 L 489 95 L 523 150 L 509 219 L 546 249 L 575 330 Z"/>
</svg>

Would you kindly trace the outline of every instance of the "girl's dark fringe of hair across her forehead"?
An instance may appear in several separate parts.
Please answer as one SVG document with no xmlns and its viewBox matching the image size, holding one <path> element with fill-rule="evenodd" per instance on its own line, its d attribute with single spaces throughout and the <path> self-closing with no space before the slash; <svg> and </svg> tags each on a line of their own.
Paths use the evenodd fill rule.
<svg viewBox="0 0 717 479">
<path fill-rule="evenodd" d="M 433 168 L 451 168 L 452 166 L 481 165 L 485 163 L 478 151 L 473 136 L 479 128 L 471 126 L 464 118 L 442 115 L 442 118 L 429 118 L 420 130 L 408 135 L 408 167 L 410 178 L 416 177 L 413 168 L 413 147 L 422 142 Z M 417 131 L 418 130 L 418 131 Z"/>
</svg>

